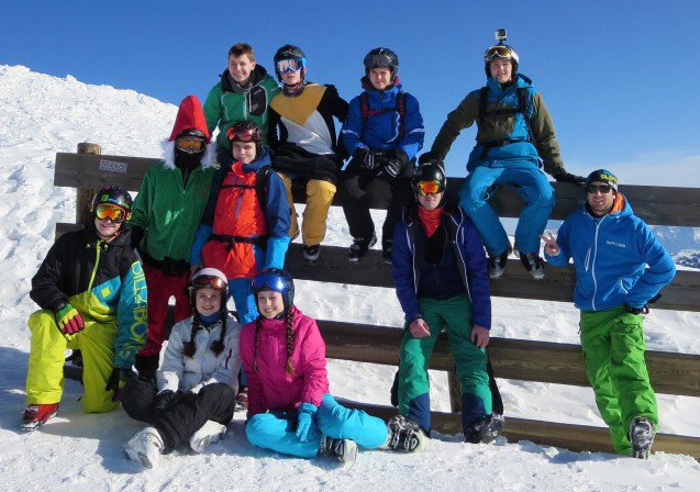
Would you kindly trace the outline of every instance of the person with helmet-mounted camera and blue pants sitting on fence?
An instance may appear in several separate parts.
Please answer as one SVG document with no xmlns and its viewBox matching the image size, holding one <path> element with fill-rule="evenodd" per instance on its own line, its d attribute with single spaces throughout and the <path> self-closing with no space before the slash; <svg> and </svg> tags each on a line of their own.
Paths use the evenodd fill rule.
<svg viewBox="0 0 700 492">
<path fill-rule="evenodd" d="M 502 33 L 501 33 L 502 31 Z M 584 178 L 564 169 L 554 123 L 532 81 L 518 72 L 515 51 L 499 44 L 484 54 L 488 82 L 475 90 L 447 115 L 433 146 L 420 164 L 443 160 L 462 130 L 477 123 L 477 145 L 469 155 L 469 175 L 459 190 L 459 205 L 474 222 L 489 254 L 489 277 L 503 275 L 512 248 L 508 234 L 488 200 L 495 190 L 511 186 L 525 201 L 515 228 L 515 249 L 534 279 L 544 278 L 540 235 L 555 204 L 554 188 L 544 170 L 562 182 L 582 185 Z"/>
</svg>

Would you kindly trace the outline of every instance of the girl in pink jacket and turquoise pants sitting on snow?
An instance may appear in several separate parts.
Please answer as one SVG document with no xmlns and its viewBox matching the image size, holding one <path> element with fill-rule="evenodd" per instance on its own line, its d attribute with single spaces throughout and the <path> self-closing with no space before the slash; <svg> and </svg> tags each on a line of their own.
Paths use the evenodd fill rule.
<svg viewBox="0 0 700 492">
<path fill-rule="evenodd" d="M 325 344 L 316 322 L 293 304 L 295 283 L 279 269 L 253 279 L 260 315 L 243 326 L 249 384 L 245 432 L 255 446 L 300 458 L 329 454 L 354 461 L 357 446 L 390 448 L 380 418 L 340 405 L 329 391 Z"/>
</svg>

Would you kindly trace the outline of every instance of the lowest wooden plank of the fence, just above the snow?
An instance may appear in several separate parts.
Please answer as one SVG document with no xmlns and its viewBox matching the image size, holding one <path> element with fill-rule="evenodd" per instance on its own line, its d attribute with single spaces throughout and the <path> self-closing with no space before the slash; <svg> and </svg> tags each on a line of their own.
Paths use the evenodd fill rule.
<svg viewBox="0 0 700 492">
<path fill-rule="evenodd" d="M 364 410 L 385 422 L 398 414 L 398 410 L 393 406 L 357 403 L 340 398 L 337 400 L 344 406 Z M 455 435 L 463 432 L 462 416 L 458 413 L 431 412 L 431 417 L 432 429 L 440 434 Z M 507 414 L 503 435 L 509 443 L 529 440 L 573 451 L 614 452 L 610 433 L 603 427 L 531 421 L 509 417 Z M 652 449 L 688 455 L 700 460 L 700 437 L 657 434 Z"/>
</svg>

